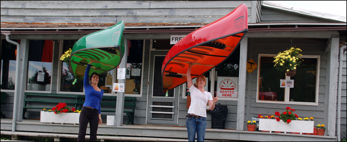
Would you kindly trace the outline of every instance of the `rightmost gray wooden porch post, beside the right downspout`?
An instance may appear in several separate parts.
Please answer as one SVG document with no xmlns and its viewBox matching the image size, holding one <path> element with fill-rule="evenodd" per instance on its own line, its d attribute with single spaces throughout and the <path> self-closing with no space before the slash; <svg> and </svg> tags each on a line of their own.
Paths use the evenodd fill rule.
<svg viewBox="0 0 347 142">
<path fill-rule="evenodd" d="M 327 135 L 328 136 L 335 136 L 335 125 L 336 125 L 336 96 L 337 96 L 337 80 L 338 80 L 338 53 L 339 53 L 339 34 L 332 34 L 331 37 L 331 47 L 330 47 L 330 53 L 328 53 L 328 56 L 330 56 L 330 60 L 328 60 L 327 65 L 330 64 L 330 71 L 329 74 L 329 83 L 327 84 L 329 86 L 329 92 L 328 92 L 328 120 L 324 120 L 323 122 L 327 124 Z M 325 104 L 324 104 L 325 105 Z"/>
</svg>

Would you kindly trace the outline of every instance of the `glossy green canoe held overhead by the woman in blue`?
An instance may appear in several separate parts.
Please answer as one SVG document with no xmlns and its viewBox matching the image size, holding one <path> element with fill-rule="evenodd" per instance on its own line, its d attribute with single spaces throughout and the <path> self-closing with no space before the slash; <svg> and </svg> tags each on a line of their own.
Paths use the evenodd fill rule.
<svg viewBox="0 0 347 142">
<path fill-rule="evenodd" d="M 124 21 L 107 29 L 88 34 L 79 39 L 71 50 L 70 66 L 77 80 L 84 78 L 84 72 L 91 59 L 100 63 L 92 63 L 90 76 L 117 68 L 124 53 L 123 39 Z"/>
</svg>

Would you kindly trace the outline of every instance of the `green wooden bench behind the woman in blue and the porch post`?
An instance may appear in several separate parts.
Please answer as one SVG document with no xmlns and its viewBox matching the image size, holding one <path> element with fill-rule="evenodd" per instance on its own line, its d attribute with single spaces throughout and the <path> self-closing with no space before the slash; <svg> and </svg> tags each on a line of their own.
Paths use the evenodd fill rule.
<svg viewBox="0 0 347 142">
<path fill-rule="evenodd" d="M 85 95 L 79 95 L 79 101 L 78 101 L 78 109 L 81 110 L 84 100 L 85 100 Z M 124 113 L 126 113 L 126 116 L 128 116 L 128 121 L 126 123 L 126 125 L 128 125 L 129 123 L 131 123 L 132 125 L 134 125 L 134 114 L 135 114 L 135 107 L 136 107 L 136 97 L 124 97 L 124 109 L 127 110 L 123 110 Z M 101 100 L 101 112 L 116 112 L 116 102 L 117 102 L 117 96 L 103 96 L 102 100 Z M 105 107 L 111 107 L 113 106 L 113 108 L 110 109 L 105 109 Z"/>
</svg>

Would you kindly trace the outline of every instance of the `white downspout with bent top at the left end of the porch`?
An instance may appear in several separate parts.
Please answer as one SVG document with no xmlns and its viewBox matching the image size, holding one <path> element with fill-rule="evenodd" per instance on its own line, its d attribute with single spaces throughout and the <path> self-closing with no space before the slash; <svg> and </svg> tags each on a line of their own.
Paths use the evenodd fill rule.
<svg viewBox="0 0 347 142">
<path fill-rule="evenodd" d="M 10 40 L 10 31 L 1 31 L 6 36 L 6 41 L 17 46 L 17 57 L 16 57 L 16 81 L 15 81 L 15 96 L 13 101 L 13 118 L 12 118 L 12 132 L 16 132 L 16 119 L 17 119 L 17 101 L 18 101 L 18 84 L 19 84 L 19 44 L 15 41 Z"/>
</svg>

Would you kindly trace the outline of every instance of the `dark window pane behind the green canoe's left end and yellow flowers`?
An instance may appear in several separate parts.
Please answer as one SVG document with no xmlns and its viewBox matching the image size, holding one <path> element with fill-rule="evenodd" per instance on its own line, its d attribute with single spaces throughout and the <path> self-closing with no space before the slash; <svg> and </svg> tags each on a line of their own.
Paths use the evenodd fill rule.
<svg viewBox="0 0 347 142">
<path fill-rule="evenodd" d="M 72 49 L 75 42 L 76 42 L 75 40 L 64 40 L 62 54 L 64 54 L 67 50 L 69 50 L 69 48 Z M 62 62 L 61 66 L 62 66 L 62 70 L 61 70 L 61 78 L 60 78 L 60 91 L 83 92 L 83 80 L 77 80 L 77 82 L 73 85 L 72 82 L 75 80 L 75 77 L 72 74 L 72 69 L 70 70 L 69 66 L 67 66 L 65 62 Z"/>
</svg>

